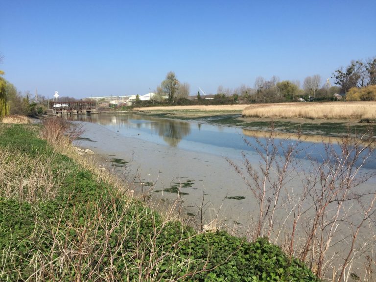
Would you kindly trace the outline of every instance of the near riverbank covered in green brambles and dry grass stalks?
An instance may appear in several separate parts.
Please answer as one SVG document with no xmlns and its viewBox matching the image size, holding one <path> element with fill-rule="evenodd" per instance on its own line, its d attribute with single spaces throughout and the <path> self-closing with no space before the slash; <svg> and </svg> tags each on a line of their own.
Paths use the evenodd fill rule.
<svg viewBox="0 0 376 282">
<path fill-rule="evenodd" d="M 59 118 L 0 125 L 1 281 L 319 281 L 266 239 L 151 210 L 74 154 L 79 133 Z"/>
</svg>

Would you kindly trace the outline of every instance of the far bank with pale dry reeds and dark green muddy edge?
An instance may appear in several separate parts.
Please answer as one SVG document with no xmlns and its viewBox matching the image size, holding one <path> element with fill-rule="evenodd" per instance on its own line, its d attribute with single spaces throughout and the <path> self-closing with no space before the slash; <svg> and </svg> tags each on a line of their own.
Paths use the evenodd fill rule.
<svg viewBox="0 0 376 282">
<path fill-rule="evenodd" d="M 210 123 L 223 124 L 228 126 L 239 126 L 249 130 L 267 131 L 271 127 L 277 132 L 297 133 L 305 135 L 341 136 L 352 133 L 364 134 L 371 126 L 373 135 L 376 132 L 376 123 L 373 118 L 359 118 L 359 116 L 348 118 L 302 118 L 302 117 L 267 117 L 273 107 L 297 107 L 302 110 L 307 107 L 328 107 L 335 106 L 342 112 L 346 112 L 346 106 L 353 107 L 371 106 L 375 107 L 375 102 L 329 102 L 329 103 L 275 103 L 275 104 L 252 104 L 252 105 L 223 105 L 223 106 L 165 106 L 165 107 L 144 107 L 136 108 L 132 113 L 155 116 L 158 118 L 173 119 L 203 119 Z M 244 112 L 247 107 L 261 109 L 264 111 L 263 117 L 246 117 Z M 241 110 L 243 109 L 243 110 Z M 356 108 L 356 111 L 362 111 Z M 234 118 L 234 115 L 238 117 Z"/>
</svg>

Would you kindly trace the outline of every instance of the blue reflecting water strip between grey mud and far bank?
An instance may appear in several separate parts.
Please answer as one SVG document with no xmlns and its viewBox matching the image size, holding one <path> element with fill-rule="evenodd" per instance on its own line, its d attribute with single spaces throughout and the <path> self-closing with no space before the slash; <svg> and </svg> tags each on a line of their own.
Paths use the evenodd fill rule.
<svg viewBox="0 0 376 282">
<path fill-rule="evenodd" d="M 255 152 L 255 148 L 245 142 L 246 140 L 252 145 L 256 145 L 253 136 L 255 131 L 236 126 L 217 125 L 215 118 L 182 121 L 134 114 L 79 115 L 74 118 L 100 124 L 123 137 L 140 139 L 186 151 L 204 152 L 235 159 L 241 158 L 242 151 L 251 154 Z M 305 140 L 304 137 L 302 139 Z M 316 141 L 310 141 L 312 139 Z M 332 137 L 331 140 L 335 142 L 336 138 Z M 262 138 L 260 138 L 260 141 L 264 143 Z M 281 145 L 286 146 L 286 143 L 293 144 L 296 141 L 292 139 L 290 141 L 277 140 L 277 142 L 282 142 Z M 340 152 L 338 145 L 334 145 L 334 147 L 337 152 Z M 315 138 L 307 138 L 307 141 L 302 142 L 299 149 L 301 153 L 297 155 L 297 158 L 304 159 L 308 153 L 310 157 L 320 160 L 325 151 L 325 146 L 321 137 L 315 136 Z M 282 153 L 282 150 L 280 150 L 280 153 Z M 375 155 L 368 159 L 364 167 L 376 169 Z"/>
</svg>

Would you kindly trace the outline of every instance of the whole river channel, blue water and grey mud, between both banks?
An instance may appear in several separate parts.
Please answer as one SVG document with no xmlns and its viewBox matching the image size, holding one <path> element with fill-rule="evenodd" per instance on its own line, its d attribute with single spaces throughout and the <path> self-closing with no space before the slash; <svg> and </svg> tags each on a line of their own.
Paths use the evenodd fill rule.
<svg viewBox="0 0 376 282">
<path fill-rule="evenodd" d="M 196 227 L 202 228 L 205 224 L 214 222 L 233 234 L 246 235 L 252 239 L 260 214 L 260 200 L 257 199 L 259 190 L 257 191 L 256 182 L 243 164 L 244 160 L 248 162 L 248 166 L 252 167 L 251 174 L 255 171 L 261 173 L 260 167 L 265 167 L 265 160 L 262 159 L 265 148 L 262 146 L 265 146 L 266 139 L 263 136 L 268 132 L 237 127 L 235 122 L 233 125 L 217 124 L 216 119 L 179 120 L 121 113 L 73 117 L 73 120 L 82 122 L 85 130 L 77 144 L 102 156 L 107 166 L 129 183 L 130 189 L 150 196 L 156 206 L 178 203 L 182 215 L 190 218 L 190 222 Z M 330 181 L 325 181 L 330 177 L 337 177 L 334 183 L 338 184 L 347 173 L 346 169 L 338 175 L 330 172 L 337 169 L 330 166 L 333 156 L 339 159 L 343 157 L 341 146 L 337 144 L 341 139 L 330 137 L 333 145 L 328 147 L 329 137 L 309 135 L 299 139 L 296 135 L 281 133 L 274 141 L 278 155 L 283 156 L 291 146 L 295 150 L 294 158 L 288 163 L 291 171 L 286 173 L 282 181 L 280 194 L 270 188 L 273 187 L 271 183 L 276 181 L 278 167 L 273 165 L 268 173 L 270 182 L 266 185 L 264 205 L 272 205 L 276 195 L 279 197 L 275 202 L 276 213 L 272 216 L 275 221 L 270 238 L 286 247 L 290 241 L 285 239 L 291 237 L 291 224 L 295 218 L 296 237 L 299 239 L 294 241 L 294 246 L 299 250 L 302 248 L 299 245 L 300 239 L 306 240 L 313 216 L 320 207 L 320 187 L 324 187 L 323 183 L 326 183 L 326 189 L 322 191 L 325 190 L 325 195 L 328 195 Z M 348 148 L 353 147 L 349 145 Z M 323 158 L 328 154 L 331 156 L 330 162 L 324 165 Z M 360 154 L 346 179 L 353 176 L 363 156 L 366 156 L 365 152 Z M 329 176 L 324 173 L 326 178 L 323 178 L 323 174 L 320 174 L 322 171 L 329 173 Z M 341 188 L 333 200 L 328 202 L 328 209 L 319 219 L 322 230 L 316 232 L 312 241 L 316 244 L 315 248 L 320 246 L 320 237 L 324 238 L 324 243 L 330 242 L 325 255 L 328 258 L 327 266 L 333 263 L 338 267 L 348 254 L 352 235 L 356 231 L 354 228 L 362 222 L 366 208 L 372 204 L 376 187 L 375 173 L 374 152 L 353 179 L 354 187 L 346 195 L 344 204 L 339 206 L 338 197 L 344 191 Z M 362 177 L 368 180 L 363 183 Z M 258 178 L 258 183 L 261 183 L 261 178 Z M 246 181 L 249 185 L 246 185 Z M 133 185 L 133 182 L 138 185 Z M 357 195 L 362 193 L 367 195 L 358 199 Z M 372 207 L 371 211 L 375 211 L 375 208 Z M 267 227 L 271 212 L 272 210 L 265 214 L 263 228 Z M 336 214 L 339 217 L 333 221 Z M 329 238 L 331 227 L 335 227 L 335 230 Z M 262 235 L 265 235 L 266 229 Z M 368 261 L 364 258 L 376 260 L 372 234 L 376 234 L 375 214 L 367 218 L 359 230 L 360 239 L 357 240 L 356 252 L 352 252 L 356 262 L 352 266 L 356 273 L 368 270 L 364 268 Z M 312 261 L 315 261 L 312 263 L 317 263 L 315 255 L 312 256 Z"/>
</svg>

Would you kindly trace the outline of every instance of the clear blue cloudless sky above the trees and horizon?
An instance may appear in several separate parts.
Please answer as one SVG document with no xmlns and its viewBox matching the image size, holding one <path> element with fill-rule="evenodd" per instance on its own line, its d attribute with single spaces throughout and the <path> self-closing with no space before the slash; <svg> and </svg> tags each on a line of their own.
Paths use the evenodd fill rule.
<svg viewBox="0 0 376 282">
<path fill-rule="evenodd" d="M 167 72 L 215 94 L 258 76 L 322 83 L 376 56 L 375 0 L 1 0 L 0 70 L 52 98 L 146 94 Z M 331 80 L 334 85 L 334 81 Z"/>
</svg>

